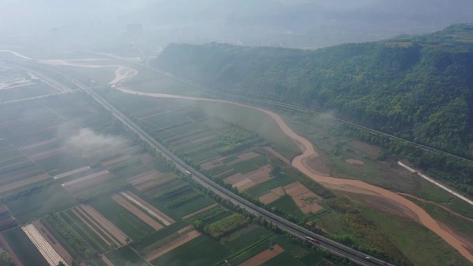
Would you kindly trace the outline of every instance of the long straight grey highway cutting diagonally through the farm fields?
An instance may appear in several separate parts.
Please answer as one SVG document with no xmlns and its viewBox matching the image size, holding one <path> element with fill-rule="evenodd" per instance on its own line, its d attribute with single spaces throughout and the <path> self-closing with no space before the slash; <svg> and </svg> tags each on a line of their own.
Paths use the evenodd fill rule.
<svg viewBox="0 0 473 266">
<path fill-rule="evenodd" d="M 39 67 L 47 68 L 46 66 L 39 66 Z M 165 146 L 163 146 L 162 144 L 154 140 L 153 137 L 151 137 L 148 133 L 142 130 L 137 124 L 131 121 L 126 115 L 118 111 L 117 108 L 115 108 L 112 104 L 107 102 L 106 99 L 104 99 L 98 93 L 93 91 L 92 88 L 90 88 L 89 86 L 86 86 L 85 84 L 82 84 L 82 82 L 77 81 L 77 79 L 67 75 L 66 73 L 63 73 L 62 71 L 55 70 L 53 68 L 48 68 L 48 69 L 54 70 L 55 72 L 63 75 L 64 77 L 67 77 L 69 80 L 71 80 L 71 82 L 73 82 L 82 91 L 86 92 L 91 97 L 93 97 L 93 99 L 95 99 L 95 101 L 98 102 L 100 105 L 102 105 L 107 111 L 111 112 L 111 114 L 114 117 L 116 117 L 118 120 L 120 120 L 120 122 L 122 122 L 125 126 L 129 127 L 129 129 L 131 129 L 131 131 L 136 133 L 142 140 L 147 142 L 154 149 L 158 149 L 159 151 L 161 151 L 161 153 L 163 153 L 163 155 L 165 156 L 165 158 L 167 158 L 167 160 L 171 160 L 172 162 L 174 162 L 174 164 L 176 164 L 176 168 L 179 171 L 183 173 L 186 173 L 186 171 L 189 171 L 189 173 L 192 174 L 192 178 L 196 182 L 198 182 L 198 184 L 201 184 L 203 187 L 212 190 L 214 193 L 221 196 L 221 198 L 228 199 L 234 205 L 242 207 L 249 213 L 252 213 L 255 216 L 260 216 L 264 218 L 265 220 L 267 220 L 268 222 L 272 222 L 272 224 L 277 225 L 277 227 L 279 227 L 281 230 L 286 231 L 289 234 L 296 236 L 297 238 L 300 238 L 302 240 L 306 240 L 306 237 L 308 236 L 310 238 L 314 238 L 317 241 L 315 242 L 311 241 L 313 245 L 328 249 L 333 254 L 341 256 L 342 258 L 348 258 L 349 260 L 353 261 L 354 263 L 357 263 L 358 265 L 393 266 L 389 263 L 384 262 L 383 260 L 380 260 L 378 258 L 373 258 L 372 256 L 368 254 L 364 254 L 360 251 L 356 251 L 355 249 L 351 249 L 351 247 L 346 247 L 345 245 L 337 243 L 334 240 L 326 238 L 322 235 L 315 234 L 313 231 L 309 231 L 308 229 L 305 229 L 304 227 L 301 227 L 299 225 L 296 225 L 293 222 L 290 222 L 284 218 L 281 218 L 275 215 L 274 213 L 267 211 L 266 209 L 263 209 L 257 205 L 252 204 L 248 200 L 241 198 L 235 193 L 228 191 L 227 189 L 221 187 L 219 184 L 217 184 L 210 178 L 207 178 L 202 173 L 196 171 L 196 169 L 190 167 L 188 164 L 183 162 L 183 160 L 180 160 L 176 155 L 171 153 L 171 151 L 166 149 Z"/>
</svg>

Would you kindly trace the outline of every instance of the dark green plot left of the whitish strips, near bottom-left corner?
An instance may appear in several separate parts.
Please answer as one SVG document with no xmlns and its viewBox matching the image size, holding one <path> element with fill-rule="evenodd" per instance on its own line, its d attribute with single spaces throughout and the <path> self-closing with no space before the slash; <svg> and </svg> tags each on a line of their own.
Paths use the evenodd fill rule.
<svg viewBox="0 0 473 266">
<path fill-rule="evenodd" d="M 2 234 L 23 265 L 49 266 L 48 262 L 20 227 L 4 231 Z"/>
</svg>

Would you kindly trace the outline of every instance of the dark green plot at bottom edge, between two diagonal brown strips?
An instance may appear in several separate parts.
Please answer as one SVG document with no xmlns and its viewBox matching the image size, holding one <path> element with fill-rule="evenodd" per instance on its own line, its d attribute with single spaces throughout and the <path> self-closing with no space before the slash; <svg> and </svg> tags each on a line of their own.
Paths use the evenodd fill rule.
<svg viewBox="0 0 473 266">
<path fill-rule="evenodd" d="M 230 251 L 219 242 L 201 235 L 151 260 L 151 264 L 154 266 L 208 266 L 214 265 L 229 255 Z"/>
</svg>

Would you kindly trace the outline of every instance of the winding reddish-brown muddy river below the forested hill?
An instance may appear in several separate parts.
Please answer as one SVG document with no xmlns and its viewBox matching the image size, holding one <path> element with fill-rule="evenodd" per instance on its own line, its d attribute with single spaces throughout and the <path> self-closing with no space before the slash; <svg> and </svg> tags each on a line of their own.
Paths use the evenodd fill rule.
<svg viewBox="0 0 473 266">
<path fill-rule="evenodd" d="M 86 66 L 86 65 L 77 64 L 77 66 Z M 96 67 L 96 66 L 89 65 L 86 67 Z M 258 107 L 250 106 L 247 104 L 241 104 L 239 102 L 231 102 L 224 99 L 187 97 L 187 96 L 171 95 L 171 94 L 165 94 L 165 93 L 143 93 L 140 91 L 133 91 L 133 90 L 124 88 L 124 86 L 121 86 L 121 83 L 133 78 L 133 76 L 136 75 L 138 71 L 133 70 L 131 68 L 124 67 L 124 66 L 121 66 L 121 67 L 122 69 L 120 70 L 120 66 L 118 66 L 118 70 L 115 71 L 116 77 L 115 79 L 113 79 L 112 82 L 110 82 L 110 84 L 115 85 L 115 89 L 117 89 L 118 91 L 121 91 L 122 93 L 128 93 L 131 95 L 141 95 L 141 96 L 147 96 L 147 97 L 161 97 L 161 98 L 169 98 L 169 99 L 189 99 L 189 100 L 205 101 L 205 102 L 220 102 L 220 103 L 226 103 L 226 104 L 234 104 L 236 106 L 242 106 L 245 108 L 252 108 L 254 110 L 265 113 L 272 120 L 275 120 L 275 122 L 277 122 L 277 124 L 279 125 L 279 128 L 281 129 L 281 131 L 283 131 L 286 135 L 288 135 L 288 137 L 294 140 L 297 146 L 299 146 L 299 149 L 301 149 L 302 154 L 297 155 L 291 162 L 293 167 L 299 169 L 299 171 L 302 171 L 302 173 L 306 174 L 307 176 L 309 176 L 316 182 L 319 182 L 320 184 L 326 187 L 330 187 L 332 189 L 337 189 L 337 190 L 342 190 L 342 191 L 348 187 L 351 192 L 355 190 L 355 191 L 358 191 L 358 193 L 362 193 L 362 194 L 366 193 L 368 195 L 378 196 L 380 198 L 390 200 L 391 202 L 394 202 L 398 205 L 401 205 L 402 207 L 409 209 L 410 211 L 415 213 L 415 215 L 417 216 L 417 217 L 413 217 L 415 220 L 417 220 L 418 222 L 420 222 L 420 224 L 424 225 L 425 227 L 433 231 L 435 234 L 440 236 L 440 238 L 443 238 L 445 242 L 447 242 L 449 245 L 454 247 L 454 249 L 456 249 L 463 257 L 465 257 L 467 260 L 470 260 L 470 262 L 473 263 L 473 255 L 470 254 L 470 252 L 462 245 L 462 241 L 459 240 L 456 236 L 454 236 L 454 234 L 451 234 L 449 230 L 444 229 L 445 227 L 441 227 L 438 224 L 438 222 L 434 220 L 434 218 L 429 216 L 429 214 L 426 211 L 424 211 L 424 209 L 420 208 L 414 202 L 407 200 L 407 198 L 404 198 L 398 195 L 397 193 L 394 193 L 387 189 L 382 189 L 380 187 L 373 186 L 372 184 L 368 184 L 360 180 L 333 178 L 324 173 L 317 173 L 317 171 L 315 171 L 314 169 L 310 169 L 310 167 L 308 167 L 308 160 L 317 158 L 319 156 L 317 152 L 315 151 L 314 146 L 305 137 L 297 135 L 297 133 L 295 133 L 293 129 L 290 129 L 290 127 L 286 124 L 286 122 L 284 122 L 284 120 L 282 120 L 282 118 L 277 113 L 265 110 L 263 108 L 258 108 Z"/>
</svg>

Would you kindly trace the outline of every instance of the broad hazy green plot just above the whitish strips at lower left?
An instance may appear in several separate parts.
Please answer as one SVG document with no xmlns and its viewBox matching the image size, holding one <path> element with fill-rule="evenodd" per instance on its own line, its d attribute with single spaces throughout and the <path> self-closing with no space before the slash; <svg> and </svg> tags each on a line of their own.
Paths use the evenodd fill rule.
<svg viewBox="0 0 473 266">
<path fill-rule="evenodd" d="M 59 184 L 41 187 L 6 202 L 8 209 L 20 223 L 30 222 L 50 211 L 62 211 L 78 204 L 79 202 Z"/>
</svg>

